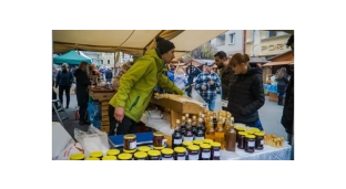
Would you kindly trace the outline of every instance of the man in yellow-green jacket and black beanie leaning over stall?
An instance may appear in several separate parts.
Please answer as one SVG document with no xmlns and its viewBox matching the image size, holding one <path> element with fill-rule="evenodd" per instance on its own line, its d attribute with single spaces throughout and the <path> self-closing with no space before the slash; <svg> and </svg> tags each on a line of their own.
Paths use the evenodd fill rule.
<svg viewBox="0 0 346 189">
<path fill-rule="evenodd" d="M 156 48 L 140 57 L 131 69 L 120 77 L 118 93 L 110 101 L 110 135 L 136 133 L 140 122 L 152 96 L 154 87 L 183 95 L 184 92 L 162 74 L 165 63 L 174 59 L 174 44 L 156 38 Z"/>
</svg>

